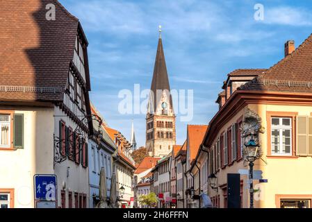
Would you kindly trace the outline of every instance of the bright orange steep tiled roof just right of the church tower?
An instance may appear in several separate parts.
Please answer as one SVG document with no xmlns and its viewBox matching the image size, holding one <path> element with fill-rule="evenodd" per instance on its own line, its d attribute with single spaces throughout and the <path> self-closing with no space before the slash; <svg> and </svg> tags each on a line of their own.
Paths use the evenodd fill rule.
<svg viewBox="0 0 312 222">
<path fill-rule="evenodd" d="M 188 125 L 188 148 L 190 149 L 190 162 L 195 159 L 200 144 L 204 139 L 207 125 Z"/>
</svg>

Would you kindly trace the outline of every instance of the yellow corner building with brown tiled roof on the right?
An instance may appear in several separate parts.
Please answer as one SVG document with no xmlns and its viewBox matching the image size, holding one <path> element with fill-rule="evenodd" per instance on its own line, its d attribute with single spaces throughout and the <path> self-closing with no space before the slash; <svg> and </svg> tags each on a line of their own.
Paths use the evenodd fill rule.
<svg viewBox="0 0 312 222">
<path fill-rule="evenodd" d="M 286 57 L 270 69 L 238 69 L 228 75 L 217 99 L 220 110 L 210 121 L 202 144 L 209 152 L 208 174 L 217 178 L 215 185 L 207 179 L 215 207 L 227 207 L 228 173 L 240 173 L 240 207 L 250 204 L 242 136 L 247 110 L 261 118 L 263 127 L 258 135 L 261 158 L 254 162 L 254 172 L 262 173 L 253 180 L 254 207 L 311 207 L 311 39 L 295 51 L 286 47 Z M 197 155 L 198 165 L 203 162 L 201 155 L 205 154 Z"/>
</svg>

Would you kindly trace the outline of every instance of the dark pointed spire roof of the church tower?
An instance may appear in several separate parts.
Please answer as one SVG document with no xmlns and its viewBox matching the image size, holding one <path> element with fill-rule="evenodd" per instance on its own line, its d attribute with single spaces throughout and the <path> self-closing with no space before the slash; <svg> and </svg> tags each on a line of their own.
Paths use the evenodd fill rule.
<svg viewBox="0 0 312 222">
<path fill-rule="evenodd" d="M 151 96 L 152 105 L 154 105 L 154 111 L 156 110 L 158 102 L 161 100 L 161 96 L 157 96 L 157 90 L 167 89 L 170 92 L 169 78 L 167 74 L 167 67 L 165 62 L 165 53 L 163 52 L 163 42 L 161 37 L 158 39 L 156 60 L 154 65 L 153 80 L 151 80 L 151 92 L 154 96 Z M 158 97 L 158 98 L 157 98 Z M 170 108 L 172 108 L 172 97 L 170 96 Z"/>
</svg>

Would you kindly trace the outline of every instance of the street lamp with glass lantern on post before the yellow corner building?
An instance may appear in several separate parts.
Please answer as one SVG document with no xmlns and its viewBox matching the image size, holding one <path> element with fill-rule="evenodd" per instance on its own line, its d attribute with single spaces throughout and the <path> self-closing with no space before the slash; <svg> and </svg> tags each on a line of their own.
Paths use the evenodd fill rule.
<svg viewBox="0 0 312 222">
<path fill-rule="evenodd" d="M 257 158 L 258 146 L 256 146 L 254 139 L 250 139 L 245 146 L 247 150 L 246 159 L 249 162 L 250 208 L 254 208 L 254 161 Z"/>
</svg>

